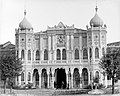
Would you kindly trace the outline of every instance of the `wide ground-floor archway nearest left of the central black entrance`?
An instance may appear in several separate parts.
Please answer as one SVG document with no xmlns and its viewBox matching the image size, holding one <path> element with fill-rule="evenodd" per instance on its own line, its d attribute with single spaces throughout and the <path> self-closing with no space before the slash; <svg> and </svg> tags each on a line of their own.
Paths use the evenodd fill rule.
<svg viewBox="0 0 120 96">
<path fill-rule="evenodd" d="M 48 81 L 47 71 L 46 69 L 42 69 L 42 74 L 41 74 L 41 85 L 42 85 L 41 87 L 42 88 L 47 88 L 47 85 L 48 85 L 47 81 Z"/>
</svg>

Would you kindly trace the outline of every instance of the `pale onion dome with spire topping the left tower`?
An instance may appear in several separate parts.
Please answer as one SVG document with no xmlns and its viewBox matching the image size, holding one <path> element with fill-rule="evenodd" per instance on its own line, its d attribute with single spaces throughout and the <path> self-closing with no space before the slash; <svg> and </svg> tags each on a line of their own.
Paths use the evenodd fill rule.
<svg viewBox="0 0 120 96">
<path fill-rule="evenodd" d="M 23 18 L 23 20 L 19 23 L 19 27 L 21 29 L 33 29 L 32 26 L 31 26 L 31 24 L 26 19 L 26 10 L 24 12 L 24 18 Z"/>
</svg>

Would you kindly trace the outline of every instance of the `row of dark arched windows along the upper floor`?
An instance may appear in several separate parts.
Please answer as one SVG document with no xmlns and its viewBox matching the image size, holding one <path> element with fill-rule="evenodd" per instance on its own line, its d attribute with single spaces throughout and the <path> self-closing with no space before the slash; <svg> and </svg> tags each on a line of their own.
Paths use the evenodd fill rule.
<svg viewBox="0 0 120 96">
<path fill-rule="evenodd" d="M 61 54 L 62 53 L 62 54 Z M 18 54 L 18 53 L 17 53 Z M 92 58 L 92 49 L 89 48 L 89 54 L 90 54 L 90 58 Z M 105 54 L 105 49 L 102 48 L 102 55 Z M 35 53 L 35 60 L 40 60 L 40 51 L 37 50 Z M 60 49 L 56 50 L 56 60 L 66 60 L 66 49 L 63 49 L 62 52 Z M 24 50 L 21 51 L 21 58 L 24 59 L 25 58 L 25 52 Z M 79 59 L 79 50 L 76 48 L 75 49 L 75 53 L 74 53 L 74 59 L 77 60 Z M 99 48 L 96 47 L 95 48 L 95 58 L 99 58 Z M 88 59 L 88 49 L 87 48 L 83 48 L 83 59 Z M 28 50 L 28 60 L 31 60 L 31 51 Z M 48 60 L 48 50 L 45 49 L 44 50 L 44 60 Z"/>
</svg>

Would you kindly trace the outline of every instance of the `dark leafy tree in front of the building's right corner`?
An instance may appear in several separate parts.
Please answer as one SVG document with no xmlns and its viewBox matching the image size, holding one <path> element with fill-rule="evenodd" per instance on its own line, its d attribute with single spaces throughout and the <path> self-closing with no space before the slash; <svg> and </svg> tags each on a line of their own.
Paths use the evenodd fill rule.
<svg viewBox="0 0 120 96">
<path fill-rule="evenodd" d="M 114 94 L 114 82 L 115 79 L 118 79 L 117 76 L 120 74 L 120 50 L 119 49 L 114 49 L 114 50 L 109 50 L 107 54 L 104 54 L 104 56 L 101 58 L 100 62 L 100 67 L 107 73 L 107 75 L 112 78 L 112 94 Z"/>
</svg>

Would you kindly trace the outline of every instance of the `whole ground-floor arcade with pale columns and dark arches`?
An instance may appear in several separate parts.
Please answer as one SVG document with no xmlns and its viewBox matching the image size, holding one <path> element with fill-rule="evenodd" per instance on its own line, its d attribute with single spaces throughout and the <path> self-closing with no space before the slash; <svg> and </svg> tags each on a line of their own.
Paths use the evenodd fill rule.
<svg viewBox="0 0 120 96">
<path fill-rule="evenodd" d="M 98 83 L 106 83 L 99 70 L 88 68 L 34 68 L 32 71 L 25 71 L 17 79 L 17 85 L 33 83 L 39 88 L 83 88 L 93 82 L 96 78 Z M 104 79 L 104 80 L 103 80 Z"/>
</svg>

